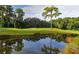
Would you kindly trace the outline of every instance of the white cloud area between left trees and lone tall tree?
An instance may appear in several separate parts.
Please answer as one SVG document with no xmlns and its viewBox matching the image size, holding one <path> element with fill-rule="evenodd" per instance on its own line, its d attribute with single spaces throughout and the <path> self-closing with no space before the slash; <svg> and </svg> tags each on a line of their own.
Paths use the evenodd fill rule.
<svg viewBox="0 0 79 59">
<path fill-rule="evenodd" d="M 29 5 L 22 8 L 23 11 L 25 12 L 24 18 L 38 17 L 38 18 L 43 19 L 42 12 L 43 12 L 44 7 L 46 6 L 45 5 Z"/>
</svg>

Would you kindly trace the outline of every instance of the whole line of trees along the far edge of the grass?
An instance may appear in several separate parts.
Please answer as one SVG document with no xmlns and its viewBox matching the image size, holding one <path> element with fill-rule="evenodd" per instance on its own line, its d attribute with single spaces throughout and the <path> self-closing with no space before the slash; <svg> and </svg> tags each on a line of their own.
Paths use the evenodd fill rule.
<svg viewBox="0 0 79 59">
<path fill-rule="evenodd" d="M 55 6 L 45 7 L 42 12 L 42 16 L 50 21 L 37 17 L 23 19 L 24 14 L 21 8 L 13 10 L 11 5 L 0 5 L 0 28 L 79 29 L 79 17 L 56 18 L 62 13 Z"/>
</svg>

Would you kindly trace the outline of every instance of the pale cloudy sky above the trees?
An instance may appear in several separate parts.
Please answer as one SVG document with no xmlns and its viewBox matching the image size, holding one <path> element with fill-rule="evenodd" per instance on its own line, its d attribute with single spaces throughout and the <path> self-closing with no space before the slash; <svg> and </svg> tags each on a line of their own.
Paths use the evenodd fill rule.
<svg viewBox="0 0 79 59">
<path fill-rule="evenodd" d="M 13 5 L 13 9 L 22 8 L 25 12 L 24 19 L 27 17 L 37 17 L 44 19 L 42 16 L 43 9 L 48 5 Z M 63 17 L 78 17 L 79 6 L 78 5 L 54 5 L 62 13 L 59 18 Z"/>
</svg>

